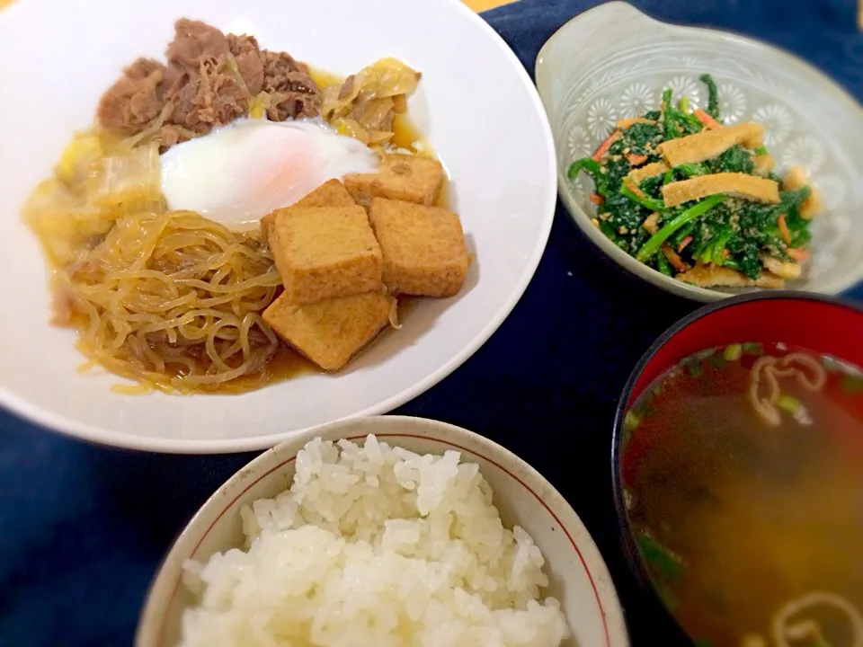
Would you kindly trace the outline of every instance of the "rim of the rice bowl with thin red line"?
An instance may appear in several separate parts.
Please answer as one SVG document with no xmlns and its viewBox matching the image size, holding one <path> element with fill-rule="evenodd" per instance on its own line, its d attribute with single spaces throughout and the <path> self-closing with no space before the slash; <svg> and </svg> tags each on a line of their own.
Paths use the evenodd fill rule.
<svg viewBox="0 0 863 647">
<path fill-rule="evenodd" d="M 400 431 L 405 429 L 407 424 L 413 427 Z M 300 435 L 268 449 L 260 456 L 255 456 L 219 485 L 182 528 L 157 566 L 156 572 L 147 586 L 144 603 L 139 612 L 138 626 L 134 637 L 136 647 L 163 646 L 165 619 L 174 596 L 182 586 L 182 562 L 189 558 L 186 554 L 193 555 L 195 553 L 210 530 L 216 526 L 218 519 L 224 516 L 245 492 L 270 474 L 293 463 L 299 450 L 305 447 L 308 441 L 315 439 L 322 433 L 337 433 L 333 440 L 351 439 L 356 441 L 365 439 L 369 433 L 374 433 L 378 439 L 415 438 L 430 440 L 455 448 L 463 455 L 480 458 L 502 471 L 512 480 L 520 483 L 538 504 L 547 510 L 557 526 L 564 531 L 570 545 L 578 555 L 583 572 L 590 582 L 593 597 L 599 607 L 597 611 L 603 626 L 606 646 L 627 647 L 629 645 L 626 616 L 620 604 L 617 588 L 610 577 L 608 564 L 590 531 L 584 526 L 582 519 L 554 485 L 547 481 L 545 476 L 520 456 L 494 442 L 494 440 L 476 433 L 476 431 L 467 430 L 449 422 L 418 416 L 380 415 L 334 421 L 314 430 L 305 430 Z M 445 436 L 450 438 L 444 438 Z M 464 447 L 463 443 L 468 444 L 465 443 L 465 440 L 474 443 L 476 447 L 473 449 Z M 239 487 L 241 483 L 243 489 L 230 500 L 227 500 L 225 493 Z M 218 510 L 218 508 L 221 508 L 218 515 L 210 519 L 213 510 Z M 207 527 L 201 533 L 205 524 Z M 191 551 L 187 550 L 190 547 Z M 583 550 L 587 551 L 587 554 L 583 553 Z M 169 561 L 173 562 L 172 569 L 178 568 L 176 577 L 170 576 L 165 571 Z M 165 598 L 165 596 L 167 597 Z"/>
</svg>

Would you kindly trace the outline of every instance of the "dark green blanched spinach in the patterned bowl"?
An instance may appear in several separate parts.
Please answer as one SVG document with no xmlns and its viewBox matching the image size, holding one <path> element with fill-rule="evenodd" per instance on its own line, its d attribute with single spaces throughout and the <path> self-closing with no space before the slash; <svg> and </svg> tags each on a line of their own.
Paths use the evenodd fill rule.
<svg viewBox="0 0 863 647">
<path fill-rule="evenodd" d="M 707 85 L 705 112 L 718 120 L 720 104 L 716 83 L 709 75 L 702 75 L 700 80 Z M 670 245 L 690 267 L 712 263 L 741 271 L 752 279 L 757 279 L 763 271 L 762 254 L 790 260 L 788 250 L 805 246 L 811 237 L 809 221 L 800 216 L 800 205 L 810 194 L 808 188 L 780 191 L 776 204 L 715 195 L 679 208 L 665 206 L 662 190 L 671 182 L 712 173 L 754 173 L 752 151 L 743 146 L 732 146 L 705 162 L 679 164 L 665 173 L 645 178 L 637 187 L 624 182 L 636 167 L 663 160 L 657 153 L 663 141 L 686 137 L 705 128 L 690 112 L 685 97 L 676 104 L 673 99 L 672 91 L 666 90 L 661 110 L 645 114 L 645 119 L 654 123 L 639 122 L 621 129 L 600 162 L 586 157 L 570 166 L 570 177 L 580 171 L 592 176 L 595 192 L 602 198 L 596 220 L 602 233 L 627 253 L 667 276 L 680 270 L 661 252 L 663 244 Z M 766 155 L 767 151 L 761 146 L 755 154 Z M 781 186 L 781 179 L 775 173 L 768 173 L 766 177 Z M 654 235 L 644 227 L 652 214 L 656 214 L 655 227 L 651 227 Z M 779 216 L 784 217 L 781 229 Z"/>
</svg>

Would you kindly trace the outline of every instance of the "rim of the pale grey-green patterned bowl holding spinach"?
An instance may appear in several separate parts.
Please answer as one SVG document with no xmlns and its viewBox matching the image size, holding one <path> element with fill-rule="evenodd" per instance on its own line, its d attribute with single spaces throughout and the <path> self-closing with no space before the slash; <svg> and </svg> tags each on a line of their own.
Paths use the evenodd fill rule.
<svg viewBox="0 0 863 647">
<path fill-rule="evenodd" d="M 712 35 L 723 36 L 729 40 L 735 40 L 749 47 L 757 47 L 769 50 L 772 54 L 783 58 L 787 62 L 788 66 L 794 67 L 798 71 L 803 72 L 806 75 L 817 77 L 822 84 L 824 90 L 832 93 L 835 99 L 841 100 L 843 102 L 848 102 L 850 106 L 856 107 L 857 111 L 859 112 L 859 117 L 861 118 L 861 123 L 863 123 L 863 103 L 860 103 L 853 95 L 851 95 L 847 90 L 845 90 L 845 88 L 843 88 L 840 84 L 834 81 L 831 76 L 826 75 L 818 67 L 812 65 L 804 58 L 797 56 L 795 53 L 787 51 L 787 49 L 772 45 L 764 40 L 752 38 L 751 36 L 746 36 L 735 31 L 713 29 L 709 27 L 697 27 L 677 22 L 661 21 L 649 15 L 648 13 L 641 11 L 632 4 L 623 2 L 622 0 L 612 0 L 612 2 L 602 3 L 592 7 L 591 9 L 588 9 L 583 13 L 579 13 L 578 15 L 574 16 L 573 18 L 565 22 L 563 25 L 561 25 L 548 38 L 548 40 L 543 43 L 542 48 L 539 49 L 537 59 L 534 64 L 534 77 L 537 80 L 537 87 L 539 90 L 540 97 L 542 97 L 543 105 L 545 105 L 546 103 L 547 96 L 547 92 L 544 91 L 543 88 L 547 88 L 550 85 L 551 80 L 551 76 L 546 69 L 548 64 L 544 62 L 543 59 L 548 57 L 548 52 L 554 47 L 556 41 L 564 40 L 565 32 L 568 31 L 576 22 L 582 21 L 583 19 L 590 16 L 597 16 L 603 13 L 611 13 L 621 10 L 630 12 L 639 20 L 654 23 L 654 25 L 658 25 L 668 31 L 709 33 Z M 645 280 L 648 283 L 654 285 L 656 288 L 663 289 L 664 291 L 670 292 L 673 295 L 688 298 L 692 301 L 698 301 L 701 303 L 712 303 L 714 301 L 721 301 L 729 298 L 738 297 L 741 295 L 761 294 L 762 292 L 769 289 L 747 288 L 748 291 L 746 292 L 722 292 L 714 288 L 700 288 L 698 286 L 693 286 L 689 283 L 684 283 L 683 281 L 676 280 L 673 277 L 667 277 L 662 272 L 648 267 L 647 265 L 645 265 L 645 263 L 641 261 L 636 261 L 635 257 L 629 255 L 628 253 L 621 250 L 617 245 L 611 243 L 611 241 L 609 241 L 609 239 L 606 238 L 605 235 L 602 235 L 601 232 L 592 225 L 590 216 L 578 204 L 573 195 L 573 192 L 567 189 L 568 179 L 565 173 L 565 168 L 562 167 L 560 164 L 557 164 L 557 160 L 555 160 L 555 162 L 557 167 L 558 193 L 560 195 L 561 201 L 566 208 L 566 213 L 568 214 L 570 220 L 572 220 L 575 225 L 578 226 L 578 228 L 582 231 L 582 234 L 585 235 L 594 245 L 596 245 L 596 247 L 598 247 L 602 253 L 609 257 L 610 260 L 614 261 L 621 269 L 626 270 L 629 274 L 633 274 L 638 279 Z M 832 285 L 832 292 L 824 292 L 823 294 L 827 296 L 841 295 L 843 292 L 855 288 L 855 286 L 859 285 L 861 281 L 863 281 L 863 261 L 858 263 L 856 276 L 834 281 Z M 801 293 L 806 291 L 805 289 L 786 289 L 787 291 L 798 291 Z"/>
</svg>

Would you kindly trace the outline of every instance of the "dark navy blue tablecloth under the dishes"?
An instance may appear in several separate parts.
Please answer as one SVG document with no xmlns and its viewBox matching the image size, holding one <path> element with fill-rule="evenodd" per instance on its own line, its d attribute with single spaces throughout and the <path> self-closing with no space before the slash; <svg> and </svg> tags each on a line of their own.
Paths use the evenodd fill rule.
<svg viewBox="0 0 863 647">
<path fill-rule="evenodd" d="M 532 71 L 547 37 L 592 4 L 522 0 L 485 17 Z M 634 4 L 663 20 L 770 40 L 863 98 L 853 0 Z M 623 274 L 558 209 L 536 277 L 499 332 L 399 410 L 483 433 L 545 474 L 600 545 L 636 646 L 677 639 L 635 589 L 618 550 L 611 421 L 636 360 L 695 307 Z M 147 583 L 173 537 L 252 457 L 94 447 L 0 412 L 0 645 L 129 644 Z"/>
</svg>

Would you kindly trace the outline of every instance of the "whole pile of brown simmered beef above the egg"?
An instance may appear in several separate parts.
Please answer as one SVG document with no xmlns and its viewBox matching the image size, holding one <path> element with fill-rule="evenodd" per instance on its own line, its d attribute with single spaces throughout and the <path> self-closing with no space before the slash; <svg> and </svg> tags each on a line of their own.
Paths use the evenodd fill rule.
<svg viewBox="0 0 863 647">
<path fill-rule="evenodd" d="M 208 133 L 248 113 L 249 99 L 270 94 L 267 117 L 316 117 L 321 94 L 307 66 L 284 52 L 258 47 L 253 36 L 227 34 L 185 18 L 174 24 L 167 66 L 141 58 L 102 96 L 98 120 L 105 129 L 135 135 L 165 115 L 163 148 Z"/>
</svg>

